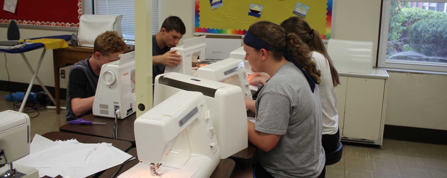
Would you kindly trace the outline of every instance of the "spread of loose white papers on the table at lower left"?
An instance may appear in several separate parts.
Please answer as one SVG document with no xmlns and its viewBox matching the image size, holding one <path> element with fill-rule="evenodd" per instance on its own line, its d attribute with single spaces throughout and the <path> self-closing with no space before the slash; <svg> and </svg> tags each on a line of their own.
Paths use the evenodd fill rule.
<svg viewBox="0 0 447 178">
<path fill-rule="evenodd" d="M 110 143 L 85 144 L 75 139 L 53 142 L 36 134 L 30 154 L 13 163 L 36 168 L 39 177 L 85 178 L 122 164 L 131 157 Z"/>
</svg>

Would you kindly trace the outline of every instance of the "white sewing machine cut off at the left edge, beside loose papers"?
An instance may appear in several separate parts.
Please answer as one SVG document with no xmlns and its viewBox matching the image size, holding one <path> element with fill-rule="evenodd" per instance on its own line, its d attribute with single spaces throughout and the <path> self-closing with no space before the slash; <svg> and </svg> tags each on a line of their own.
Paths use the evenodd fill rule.
<svg viewBox="0 0 447 178">
<path fill-rule="evenodd" d="M 0 112 L 1 178 L 38 178 L 38 170 L 13 162 L 30 154 L 30 117 L 12 110 Z"/>
</svg>

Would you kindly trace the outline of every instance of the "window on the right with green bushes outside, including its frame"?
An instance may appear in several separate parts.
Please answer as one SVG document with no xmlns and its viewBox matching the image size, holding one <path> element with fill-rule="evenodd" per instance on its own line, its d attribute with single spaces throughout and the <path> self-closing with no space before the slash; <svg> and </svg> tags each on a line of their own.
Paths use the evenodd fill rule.
<svg viewBox="0 0 447 178">
<path fill-rule="evenodd" d="M 447 72 L 447 0 L 384 0 L 379 67 Z"/>
</svg>

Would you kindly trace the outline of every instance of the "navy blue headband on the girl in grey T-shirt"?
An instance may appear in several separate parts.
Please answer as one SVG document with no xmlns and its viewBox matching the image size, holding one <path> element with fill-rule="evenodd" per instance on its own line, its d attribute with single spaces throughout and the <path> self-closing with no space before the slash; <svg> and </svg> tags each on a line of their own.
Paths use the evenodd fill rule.
<svg viewBox="0 0 447 178">
<path fill-rule="evenodd" d="M 245 33 L 244 44 L 254 49 L 266 49 L 267 51 L 278 51 L 278 49 L 274 49 L 266 41 L 261 40 L 256 36 L 254 36 L 250 31 L 247 31 Z M 286 58 L 287 61 L 292 62 L 296 67 L 298 67 L 299 70 L 301 70 L 301 72 L 303 72 L 304 77 L 306 77 L 306 80 L 308 81 L 310 89 L 312 90 L 313 93 L 316 81 L 309 75 L 309 73 L 306 70 L 303 69 L 303 67 L 301 67 L 301 65 L 298 64 L 298 62 L 293 58 L 292 53 L 287 51 L 287 49 L 281 49 L 280 51 L 284 52 L 284 57 Z"/>
</svg>

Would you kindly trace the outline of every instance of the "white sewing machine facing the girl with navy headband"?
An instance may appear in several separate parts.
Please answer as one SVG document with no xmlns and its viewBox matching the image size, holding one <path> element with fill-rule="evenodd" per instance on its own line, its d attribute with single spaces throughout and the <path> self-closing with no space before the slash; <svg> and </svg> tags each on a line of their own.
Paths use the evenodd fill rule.
<svg viewBox="0 0 447 178">
<path fill-rule="evenodd" d="M 246 99 L 253 99 L 244 62 L 240 59 L 228 58 L 205 65 L 197 69 L 197 77 L 239 86 Z"/>
</svg>

